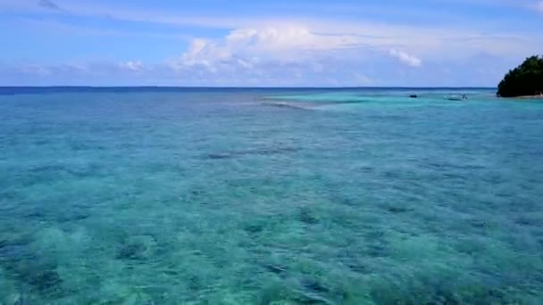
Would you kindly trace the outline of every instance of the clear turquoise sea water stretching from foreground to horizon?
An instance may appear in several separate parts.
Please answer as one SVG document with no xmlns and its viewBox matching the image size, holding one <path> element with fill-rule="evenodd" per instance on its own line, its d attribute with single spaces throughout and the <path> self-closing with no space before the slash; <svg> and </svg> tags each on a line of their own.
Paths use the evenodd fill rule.
<svg viewBox="0 0 543 305">
<path fill-rule="evenodd" d="M 543 103 L 0 93 L 1 304 L 543 302 Z"/>
</svg>

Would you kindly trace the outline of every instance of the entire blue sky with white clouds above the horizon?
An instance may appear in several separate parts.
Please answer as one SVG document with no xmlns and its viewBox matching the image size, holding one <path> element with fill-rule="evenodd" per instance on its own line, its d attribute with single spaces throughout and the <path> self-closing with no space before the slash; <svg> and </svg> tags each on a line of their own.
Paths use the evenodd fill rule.
<svg viewBox="0 0 543 305">
<path fill-rule="evenodd" d="M 0 86 L 496 87 L 543 0 L 0 0 Z"/>
</svg>

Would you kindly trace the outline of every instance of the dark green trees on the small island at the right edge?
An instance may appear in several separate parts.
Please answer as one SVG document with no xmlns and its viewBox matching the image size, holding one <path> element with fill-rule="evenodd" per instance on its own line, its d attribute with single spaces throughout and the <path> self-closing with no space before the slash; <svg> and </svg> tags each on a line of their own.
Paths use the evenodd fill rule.
<svg viewBox="0 0 543 305">
<path fill-rule="evenodd" d="M 543 56 L 528 57 L 514 70 L 509 70 L 497 86 L 502 97 L 543 96 Z"/>
</svg>

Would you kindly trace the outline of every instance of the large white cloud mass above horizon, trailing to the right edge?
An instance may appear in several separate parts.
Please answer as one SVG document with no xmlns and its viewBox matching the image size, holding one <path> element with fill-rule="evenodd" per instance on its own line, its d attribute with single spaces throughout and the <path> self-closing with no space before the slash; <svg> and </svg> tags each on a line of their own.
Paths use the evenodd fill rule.
<svg viewBox="0 0 543 305">
<path fill-rule="evenodd" d="M 527 49 L 535 50 L 538 45 L 514 35 L 492 36 L 458 29 L 277 22 L 234 29 L 224 37 L 193 39 L 184 53 L 166 63 L 180 75 L 192 73 L 200 79 L 228 75 L 230 79 L 224 80 L 228 84 L 233 78 L 244 79 L 246 84 L 298 84 L 303 78 L 308 83 L 315 78 L 329 79 L 328 85 L 333 84 L 332 78 L 349 84 L 380 84 L 380 74 L 398 70 L 393 61 L 402 62 L 405 67 L 400 70 L 405 73 L 414 71 L 409 67 L 422 67 L 422 62 L 423 70 L 430 70 L 439 62 L 472 62 L 473 56 L 480 54 L 497 58 L 496 65 L 525 56 Z M 418 73 L 418 78 L 425 75 L 413 73 Z"/>
</svg>

